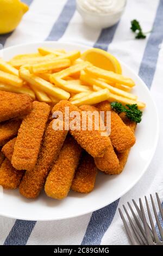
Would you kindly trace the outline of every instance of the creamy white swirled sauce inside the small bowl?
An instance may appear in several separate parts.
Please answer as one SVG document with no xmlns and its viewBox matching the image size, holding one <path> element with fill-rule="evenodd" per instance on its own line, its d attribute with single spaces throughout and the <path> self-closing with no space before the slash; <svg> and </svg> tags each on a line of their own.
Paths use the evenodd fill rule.
<svg viewBox="0 0 163 256">
<path fill-rule="evenodd" d="M 78 3 L 91 13 L 112 14 L 121 11 L 126 0 L 78 0 Z"/>
</svg>

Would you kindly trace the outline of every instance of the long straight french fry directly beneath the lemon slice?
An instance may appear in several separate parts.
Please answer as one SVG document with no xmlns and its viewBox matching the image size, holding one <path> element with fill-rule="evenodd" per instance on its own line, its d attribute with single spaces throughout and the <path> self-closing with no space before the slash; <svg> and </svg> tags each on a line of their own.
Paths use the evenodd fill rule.
<svg viewBox="0 0 163 256">
<path fill-rule="evenodd" d="M 129 77 L 116 74 L 112 71 L 106 71 L 104 69 L 97 68 L 96 66 L 87 66 L 85 72 L 93 77 L 104 78 L 115 83 L 124 84 L 124 86 L 135 86 L 134 81 Z"/>
</svg>

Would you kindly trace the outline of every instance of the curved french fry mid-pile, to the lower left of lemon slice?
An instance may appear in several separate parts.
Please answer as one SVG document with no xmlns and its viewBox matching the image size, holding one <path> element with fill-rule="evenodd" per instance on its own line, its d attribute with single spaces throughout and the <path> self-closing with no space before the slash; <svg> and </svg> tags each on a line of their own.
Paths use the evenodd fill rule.
<svg viewBox="0 0 163 256">
<path fill-rule="evenodd" d="M 59 88 L 66 90 L 66 92 L 69 92 L 69 93 L 81 93 L 81 92 L 86 92 L 87 90 L 90 90 L 90 87 L 80 86 L 80 85 L 77 86 L 76 84 L 71 84 L 71 81 L 62 80 L 59 77 L 53 78 L 52 81 Z"/>
</svg>

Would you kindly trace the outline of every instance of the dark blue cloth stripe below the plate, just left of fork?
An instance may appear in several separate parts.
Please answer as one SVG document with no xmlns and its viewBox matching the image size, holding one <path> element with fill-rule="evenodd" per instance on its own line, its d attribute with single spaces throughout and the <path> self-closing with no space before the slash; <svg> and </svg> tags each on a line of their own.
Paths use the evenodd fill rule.
<svg viewBox="0 0 163 256">
<path fill-rule="evenodd" d="M 100 245 L 106 230 L 114 218 L 119 200 L 120 199 L 93 212 L 87 226 L 82 245 Z"/>
</svg>

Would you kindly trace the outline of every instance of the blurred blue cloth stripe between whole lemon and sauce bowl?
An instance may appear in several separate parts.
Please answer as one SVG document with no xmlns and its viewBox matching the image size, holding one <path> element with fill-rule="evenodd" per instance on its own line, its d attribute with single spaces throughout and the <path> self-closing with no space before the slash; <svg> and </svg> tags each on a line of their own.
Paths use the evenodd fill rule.
<svg viewBox="0 0 163 256">
<path fill-rule="evenodd" d="M 46 41 L 57 41 L 64 35 L 68 23 L 71 21 L 76 10 L 76 0 L 67 0 L 62 9 L 57 21 L 54 23 L 51 33 L 48 35 Z"/>
</svg>

